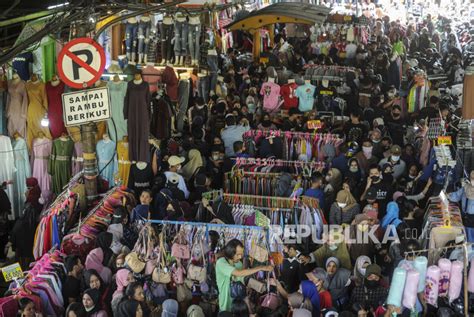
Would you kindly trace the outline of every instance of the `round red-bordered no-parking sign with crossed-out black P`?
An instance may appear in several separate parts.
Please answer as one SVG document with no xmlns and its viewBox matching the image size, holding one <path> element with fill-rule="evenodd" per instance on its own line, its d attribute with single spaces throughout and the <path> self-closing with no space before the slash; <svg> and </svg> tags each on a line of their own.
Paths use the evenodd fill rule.
<svg viewBox="0 0 474 317">
<path fill-rule="evenodd" d="M 59 53 L 57 66 L 59 77 L 69 87 L 90 87 L 104 72 L 104 49 L 90 38 L 72 40 Z"/>
</svg>

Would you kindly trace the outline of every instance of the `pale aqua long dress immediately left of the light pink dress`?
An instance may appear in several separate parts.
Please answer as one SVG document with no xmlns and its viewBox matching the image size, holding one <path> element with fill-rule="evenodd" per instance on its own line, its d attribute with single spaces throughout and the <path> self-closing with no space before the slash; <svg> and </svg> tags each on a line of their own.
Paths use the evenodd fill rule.
<svg viewBox="0 0 474 317">
<path fill-rule="evenodd" d="M 23 138 L 17 138 L 12 142 L 13 157 L 15 159 L 15 171 L 13 178 L 14 199 L 12 201 L 15 219 L 21 216 L 25 206 L 26 179 L 31 176 L 28 149 Z"/>
</svg>

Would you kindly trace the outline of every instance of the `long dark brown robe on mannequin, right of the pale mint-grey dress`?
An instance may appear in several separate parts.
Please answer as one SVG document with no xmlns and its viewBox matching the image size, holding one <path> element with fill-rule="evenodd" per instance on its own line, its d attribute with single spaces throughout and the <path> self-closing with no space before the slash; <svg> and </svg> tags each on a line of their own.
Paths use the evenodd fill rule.
<svg viewBox="0 0 474 317">
<path fill-rule="evenodd" d="M 150 134 L 150 99 L 149 85 L 137 72 L 128 83 L 123 109 L 124 118 L 128 119 L 130 159 L 133 161 L 150 161 L 147 140 Z"/>
</svg>

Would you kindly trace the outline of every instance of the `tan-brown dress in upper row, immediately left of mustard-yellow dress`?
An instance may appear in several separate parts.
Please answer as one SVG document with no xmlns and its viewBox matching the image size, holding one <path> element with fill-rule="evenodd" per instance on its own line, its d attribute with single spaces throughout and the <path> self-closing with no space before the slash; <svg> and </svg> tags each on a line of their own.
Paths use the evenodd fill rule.
<svg viewBox="0 0 474 317">
<path fill-rule="evenodd" d="M 7 120 L 8 134 L 13 137 L 18 132 L 22 137 L 26 137 L 26 114 L 28 109 L 28 95 L 26 84 L 23 80 L 8 82 L 7 96 Z"/>
</svg>

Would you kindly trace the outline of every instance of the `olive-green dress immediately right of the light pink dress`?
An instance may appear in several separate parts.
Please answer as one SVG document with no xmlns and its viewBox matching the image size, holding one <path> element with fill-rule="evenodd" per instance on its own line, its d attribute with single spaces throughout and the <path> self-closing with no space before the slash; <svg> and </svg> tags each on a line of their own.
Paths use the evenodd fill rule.
<svg viewBox="0 0 474 317">
<path fill-rule="evenodd" d="M 53 177 L 53 192 L 58 195 L 71 178 L 71 158 L 74 142 L 70 138 L 53 141 L 48 171 Z"/>
</svg>

